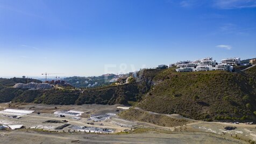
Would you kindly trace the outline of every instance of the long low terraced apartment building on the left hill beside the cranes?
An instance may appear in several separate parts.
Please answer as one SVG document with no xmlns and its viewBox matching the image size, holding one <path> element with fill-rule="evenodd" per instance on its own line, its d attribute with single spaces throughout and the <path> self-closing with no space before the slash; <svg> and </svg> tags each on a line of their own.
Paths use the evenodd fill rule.
<svg viewBox="0 0 256 144">
<path fill-rule="evenodd" d="M 24 84 L 24 83 L 17 83 L 13 86 L 13 88 L 20 88 L 20 89 L 51 89 L 53 87 L 53 85 L 48 84 L 48 83 L 28 83 L 28 84 Z"/>
</svg>

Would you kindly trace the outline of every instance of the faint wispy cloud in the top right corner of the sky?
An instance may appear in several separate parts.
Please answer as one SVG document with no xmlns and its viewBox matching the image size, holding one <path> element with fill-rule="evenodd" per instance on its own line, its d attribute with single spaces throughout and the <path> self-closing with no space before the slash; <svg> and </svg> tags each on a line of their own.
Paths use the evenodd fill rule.
<svg viewBox="0 0 256 144">
<path fill-rule="evenodd" d="M 219 9 L 256 8 L 256 0 L 215 0 L 214 6 Z"/>
</svg>

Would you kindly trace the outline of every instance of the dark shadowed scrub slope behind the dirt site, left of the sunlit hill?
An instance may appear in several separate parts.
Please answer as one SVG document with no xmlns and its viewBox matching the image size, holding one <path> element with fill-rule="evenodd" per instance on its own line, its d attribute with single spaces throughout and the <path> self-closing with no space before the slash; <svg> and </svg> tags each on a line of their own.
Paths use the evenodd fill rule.
<svg viewBox="0 0 256 144">
<path fill-rule="evenodd" d="M 105 87 L 70 90 L 21 90 L 16 88 L 1 88 L 0 102 L 27 102 L 44 104 L 125 104 L 130 101 L 139 102 L 141 97 L 151 89 L 153 77 L 158 69 L 139 72 L 139 81 L 131 78 L 130 83 L 109 85 Z"/>
</svg>

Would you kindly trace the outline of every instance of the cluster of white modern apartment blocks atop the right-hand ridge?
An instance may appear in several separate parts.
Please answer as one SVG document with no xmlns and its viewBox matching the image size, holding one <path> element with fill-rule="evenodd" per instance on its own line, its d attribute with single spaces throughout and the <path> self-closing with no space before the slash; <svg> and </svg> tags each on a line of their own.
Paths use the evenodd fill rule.
<svg viewBox="0 0 256 144">
<path fill-rule="evenodd" d="M 190 72 L 190 71 L 210 71 L 210 70 L 225 70 L 232 71 L 233 65 L 239 65 L 240 58 L 227 58 L 221 60 L 221 63 L 217 64 L 212 57 L 205 57 L 201 60 L 191 61 L 178 61 L 170 66 L 176 66 L 177 72 Z"/>
</svg>

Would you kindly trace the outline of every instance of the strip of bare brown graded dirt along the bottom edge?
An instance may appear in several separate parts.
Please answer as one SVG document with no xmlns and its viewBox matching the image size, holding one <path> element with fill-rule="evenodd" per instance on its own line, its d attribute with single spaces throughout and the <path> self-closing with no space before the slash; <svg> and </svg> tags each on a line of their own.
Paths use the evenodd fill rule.
<svg viewBox="0 0 256 144">
<path fill-rule="evenodd" d="M 209 133 L 62 134 L 34 131 L 0 132 L 1 143 L 245 143 Z"/>
</svg>

